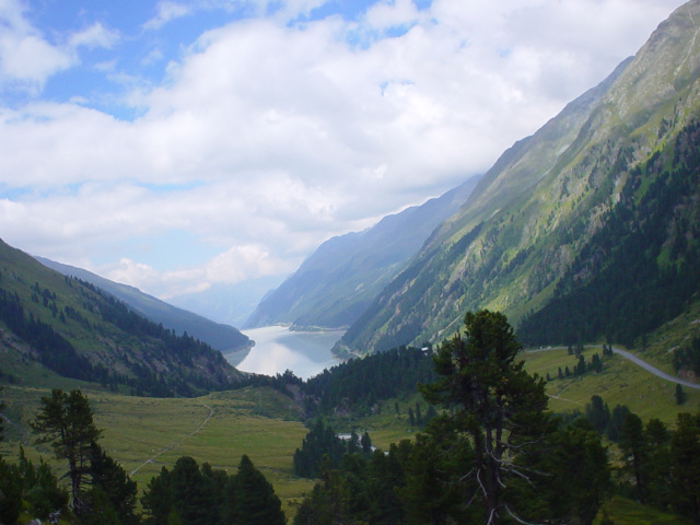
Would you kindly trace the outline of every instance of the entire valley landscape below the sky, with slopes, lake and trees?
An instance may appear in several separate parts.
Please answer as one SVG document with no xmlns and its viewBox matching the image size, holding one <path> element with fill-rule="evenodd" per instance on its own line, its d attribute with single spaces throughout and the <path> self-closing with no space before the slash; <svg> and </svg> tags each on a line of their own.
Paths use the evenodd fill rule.
<svg viewBox="0 0 700 525">
<path fill-rule="evenodd" d="M 244 331 L 0 241 L 0 522 L 700 523 L 698 21 Z"/>
</svg>

